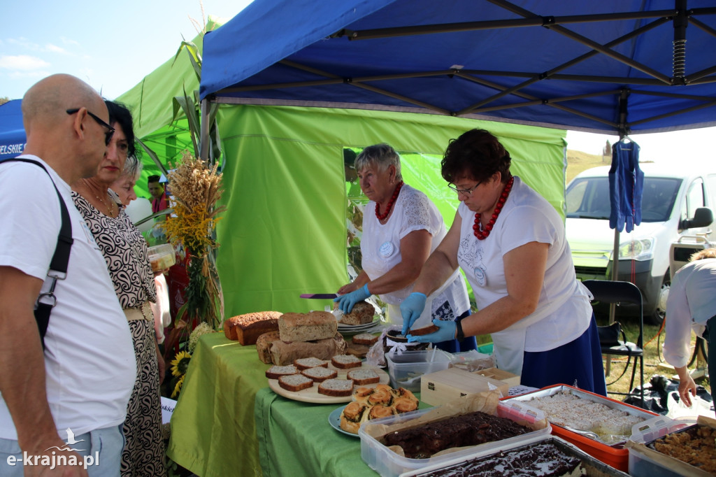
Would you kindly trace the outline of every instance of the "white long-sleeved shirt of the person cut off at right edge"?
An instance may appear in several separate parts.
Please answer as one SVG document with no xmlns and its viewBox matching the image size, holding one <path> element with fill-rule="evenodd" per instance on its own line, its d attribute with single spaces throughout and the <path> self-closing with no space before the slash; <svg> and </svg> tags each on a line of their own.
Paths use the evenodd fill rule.
<svg viewBox="0 0 716 477">
<path fill-rule="evenodd" d="M 701 336 L 716 315 L 716 259 L 691 261 L 674 275 L 667 299 L 664 359 L 675 367 L 691 357 L 691 330 Z"/>
</svg>

